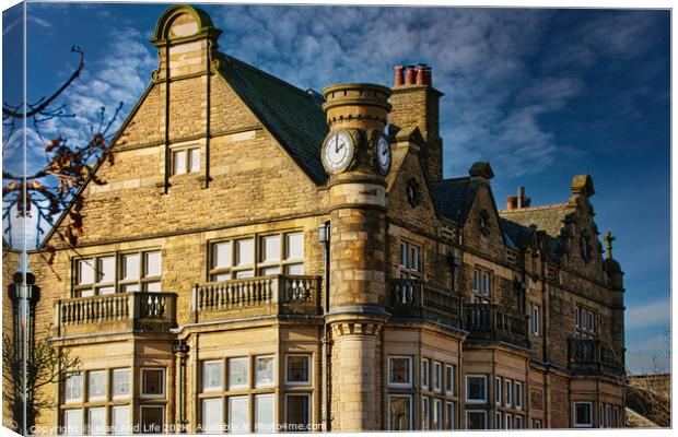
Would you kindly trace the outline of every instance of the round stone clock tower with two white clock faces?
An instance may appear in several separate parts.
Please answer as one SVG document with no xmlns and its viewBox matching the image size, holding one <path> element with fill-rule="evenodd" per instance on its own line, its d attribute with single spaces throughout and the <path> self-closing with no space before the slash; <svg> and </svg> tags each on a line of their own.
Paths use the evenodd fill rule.
<svg viewBox="0 0 678 437">
<path fill-rule="evenodd" d="M 329 174 L 332 430 L 384 429 L 382 328 L 385 286 L 386 175 L 384 137 L 390 90 L 372 84 L 326 87 L 329 133 L 322 150 Z"/>
</svg>

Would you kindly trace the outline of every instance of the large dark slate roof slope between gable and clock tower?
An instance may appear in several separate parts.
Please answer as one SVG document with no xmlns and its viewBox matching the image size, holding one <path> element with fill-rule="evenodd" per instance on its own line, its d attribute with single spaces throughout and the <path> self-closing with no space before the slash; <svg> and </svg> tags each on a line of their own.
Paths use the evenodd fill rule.
<svg viewBox="0 0 678 437">
<path fill-rule="evenodd" d="M 235 93 L 313 181 L 325 184 L 320 147 L 329 129 L 317 96 L 232 56 L 219 54 L 219 60 Z"/>
</svg>

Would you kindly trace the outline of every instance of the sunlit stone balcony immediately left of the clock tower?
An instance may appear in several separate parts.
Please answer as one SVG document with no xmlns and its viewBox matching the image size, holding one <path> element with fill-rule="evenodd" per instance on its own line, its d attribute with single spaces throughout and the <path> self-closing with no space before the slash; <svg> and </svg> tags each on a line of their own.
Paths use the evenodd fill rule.
<svg viewBox="0 0 678 437">
<path fill-rule="evenodd" d="M 322 284 L 319 276 L 278 274 L 196 285 L 194 322 L 322 315 Z"/>
</svg>

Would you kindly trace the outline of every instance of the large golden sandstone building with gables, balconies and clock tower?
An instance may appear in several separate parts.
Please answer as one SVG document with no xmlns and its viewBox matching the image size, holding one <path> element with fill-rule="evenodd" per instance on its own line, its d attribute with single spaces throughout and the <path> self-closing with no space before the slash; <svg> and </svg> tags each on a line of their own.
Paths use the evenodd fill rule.
<svg viewBox="0 0 678 437">
<path fill-rule="evenodd" d="M 622 426 L 622 272 L 589 176 L 495 204 L 444 179 L 425 66 L 299 90 L 167 9 L 159 69 L 31 267 L 36 330 L 79 356 L 39 426 L 369 430 Z"/>
</svg>

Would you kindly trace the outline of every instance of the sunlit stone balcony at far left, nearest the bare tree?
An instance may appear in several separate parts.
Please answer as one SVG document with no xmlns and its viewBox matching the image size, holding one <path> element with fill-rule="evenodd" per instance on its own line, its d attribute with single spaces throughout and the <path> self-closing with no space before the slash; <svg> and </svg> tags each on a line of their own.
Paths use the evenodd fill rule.
<svg viewBox="0 0 678 437">
<path fill-rule="evenodd" d="M 57 300 L 56 336 L 102 332 L 168 332 L 176 327 L 176 294 L 115 293 Z"/>
</svg>

